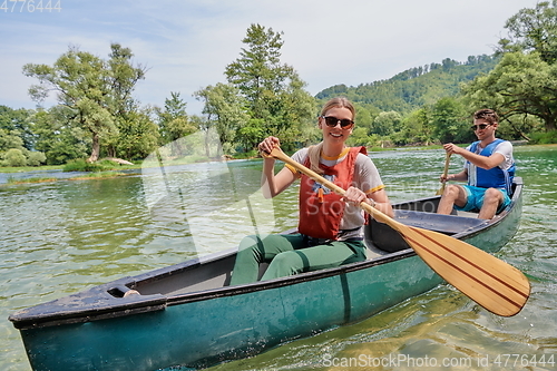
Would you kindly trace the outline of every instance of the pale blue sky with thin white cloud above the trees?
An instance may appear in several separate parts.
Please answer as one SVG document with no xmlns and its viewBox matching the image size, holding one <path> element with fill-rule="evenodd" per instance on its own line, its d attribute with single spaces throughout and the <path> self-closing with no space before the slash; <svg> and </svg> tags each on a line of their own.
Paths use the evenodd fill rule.
<svg viewBox="0 0 557 371">
<path fill-rule="evenodd" d="M 30 2 L 35 1 L 35 2 Z M 388 79 L 408 68 L 465 61 L 492 53 L 505 21 L 534 0 L 51 0 L 60 11 L 38 11 L 40 0 L 6 0 L 0 9 L 0 105 L 33 108 L 25 64 L 52 65 L 78 46 L 108 58 L 110 42 L 133 50 L 148 68 L 135 97 L 163 106 L 179 91 L 189 114 L 192 94 L 225 82 L 251 23 L 283 31 L 282 61 L 315 95 L 332 85 Z M 0 3 L 4 0 L 0 0 Z M 42 0 L 43 6 L 48 0 Z M 4 3 L 6 4 L 6 3 Z M 47 100 L 47 107 L 56 102 Z"/>
</svg>

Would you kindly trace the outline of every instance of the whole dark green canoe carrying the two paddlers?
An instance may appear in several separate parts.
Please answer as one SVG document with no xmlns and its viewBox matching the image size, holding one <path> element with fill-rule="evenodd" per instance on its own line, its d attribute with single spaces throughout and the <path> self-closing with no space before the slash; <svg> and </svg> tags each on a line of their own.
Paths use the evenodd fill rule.
<svg viewBox="0 0 557 371">
<path fill-rule="evenodd" d="M 439 196 L 393 205 L 401 223 L 497 252 L 516 233 L 522 182 L 491 221 L 434 214 Z M 10 316 L 36 371 L 204 368 L 361 321 L 442 283 L 389 226 L 365 227 L 369 258 L 228 286 L 235 251 L 124 277 Z M 262 266 L 262 270 L 265 267 Z"/>
</svg>

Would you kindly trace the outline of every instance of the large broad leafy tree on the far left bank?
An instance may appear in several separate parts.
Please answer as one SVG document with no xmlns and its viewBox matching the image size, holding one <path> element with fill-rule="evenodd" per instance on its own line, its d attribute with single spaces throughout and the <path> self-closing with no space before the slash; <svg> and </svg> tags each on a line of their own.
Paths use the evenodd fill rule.
<svg viewBox="0 0 557 371">
<path fill-rule="evenodd" d="M 31 98 L 40 104 L 55 91 L 58 104 L 67 108 L 67 125 L 90 134 L 89 162 L 98 159 L 102 141 L 115 147 L 118 121 L 134 109 L 130 94 L 145 69 L 133 67 L 131 57 L 129 49 L 117 43 L 111 45 L 109 61 L 70 46 L 53 66 L 23 66 L 26 76 L 39 79 L 29 89 Z"/>
</svg>

